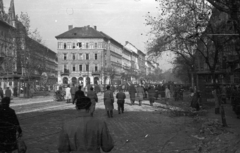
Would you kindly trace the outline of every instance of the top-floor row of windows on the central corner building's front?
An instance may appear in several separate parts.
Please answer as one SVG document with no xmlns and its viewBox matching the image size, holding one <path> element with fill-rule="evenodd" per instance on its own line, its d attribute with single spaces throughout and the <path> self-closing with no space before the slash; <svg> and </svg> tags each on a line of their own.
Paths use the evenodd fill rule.
<svg viewBox="0 0 240 153">
<path fill-rule="evenodd" d="M 102 42 L 58 42 L 58 49 L 102 49 L 105 47 L 105 43 Z"/>
</svg>

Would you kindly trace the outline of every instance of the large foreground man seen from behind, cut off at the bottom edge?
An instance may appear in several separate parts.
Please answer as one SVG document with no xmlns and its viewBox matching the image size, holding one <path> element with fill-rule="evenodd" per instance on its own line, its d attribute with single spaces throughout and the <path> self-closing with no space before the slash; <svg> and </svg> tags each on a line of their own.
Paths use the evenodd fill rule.
<svg viewBox="0 0 240 153">
<path fill-rule="evenodd" d="M 113 149 L 106 122 L 91 117 L 90 107 L 88 97 L 76 101 L 77 116 L 63 124 L 58 141 L 59 153 L 101 153 L 101 150 L 110 152 Z"/>
</svg>

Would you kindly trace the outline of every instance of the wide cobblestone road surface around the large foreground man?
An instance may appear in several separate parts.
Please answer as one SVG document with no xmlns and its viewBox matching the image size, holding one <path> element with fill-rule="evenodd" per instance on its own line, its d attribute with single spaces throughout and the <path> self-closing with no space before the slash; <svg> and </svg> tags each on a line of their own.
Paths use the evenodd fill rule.
<svg viewBox="0 0 240 153">
<path fill-rule="evenodd" d="M 144 101 L 142 106 L 137 104 L 130 106 L 127 99 L 125 113 L 117 114 L 113 118 L 107 118 L 102 96 L 94 117 L 106 120 L 109 130 L 114 138 L 115 147 L 112 153 L 172 153 L 183 148 L 191 147 L 195 143 L 192 137 L 184 137 L 191 126 L 188 118 L 170 118 L 159 113 L 159 105 L 149 106 Z M 56 103 L 56 102 L 54 102 Z M 45 103 L 47 104 L 47 103 Z M 32 105 L 32 104 L 31 104 Z M 29 105 L 29 108 L 35 109 Z M 72 104 L 65 102 L 57 103 L 59 107 L 51 108 L 48 104 L 43 109 L 26 113 L 19 113 L 18 117 L 23 128 L 24 139 L 28 146 L 28 153 L 57 153 L 58 132 L 64 120 L 71 119 L 76 115 Z M 16 106 L 17 112 L 21 112 L 20 106 Z M 25 107 L 25 106 L 24 106 Z M 47 109 L 48 108 L 48 109 Z"/>
</svg>

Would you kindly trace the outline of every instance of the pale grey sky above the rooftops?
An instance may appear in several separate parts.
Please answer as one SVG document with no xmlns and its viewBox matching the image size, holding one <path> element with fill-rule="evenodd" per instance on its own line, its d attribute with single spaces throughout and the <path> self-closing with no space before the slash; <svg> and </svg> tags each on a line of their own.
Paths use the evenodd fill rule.
<svg viewBox="0 0 240 153">
<path fill-rule="evenodd" d="M 125 44 L 131 42 L 146 52 L 150 27 L 145 25 L 148 12 L 157 14 L 155 0 L 14 0 L 15 12 L 27 12 L 31 28 L 38 28 L 50 49 L 57 51 L 55 36 L 66 32 L 68 25 L 97 26 L 99 31 Z M 10 0 L 3 0 L 6 9 Z M 166 64 L 165 64 L 166 65 Z"/>
</svg>

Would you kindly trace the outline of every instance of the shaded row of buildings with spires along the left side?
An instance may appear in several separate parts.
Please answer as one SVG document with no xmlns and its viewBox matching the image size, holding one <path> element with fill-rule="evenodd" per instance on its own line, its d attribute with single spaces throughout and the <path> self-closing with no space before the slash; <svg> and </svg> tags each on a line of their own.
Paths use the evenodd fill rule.
<svg viewBox="0 0 240 153">
<path fill-rule="evenodd" d="M 8 14 L 0 1 L 0 77 L 1 87 L 10 87 L 19 95 L 20 87 L 56 83 L 56 53 L 29 38 L 23 24 L 15 19 L 14 1 Z M 39 60 L 41 58 L 41 60 Z M 15 93 L 16 95 L 16 93 Z"/>
</svg>

